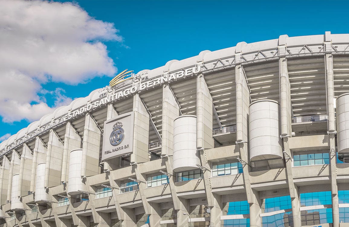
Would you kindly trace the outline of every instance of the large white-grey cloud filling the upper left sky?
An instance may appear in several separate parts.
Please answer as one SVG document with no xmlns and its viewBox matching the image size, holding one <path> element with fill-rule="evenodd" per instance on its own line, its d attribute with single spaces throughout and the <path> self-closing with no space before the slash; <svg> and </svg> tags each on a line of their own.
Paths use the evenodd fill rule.
<svg viewBox="0 0 349 227">
<path fill-rule="evenodd" d="M 113 76 L 104 40 L 122 41 L 113 23 L 76 4 L 0 0 L 0 115 L 4 122 L 38 120 L 71 99 L 62 90 L 50 107 L 38 93 L 47 81 L 79 84 Z"/>
</svg>

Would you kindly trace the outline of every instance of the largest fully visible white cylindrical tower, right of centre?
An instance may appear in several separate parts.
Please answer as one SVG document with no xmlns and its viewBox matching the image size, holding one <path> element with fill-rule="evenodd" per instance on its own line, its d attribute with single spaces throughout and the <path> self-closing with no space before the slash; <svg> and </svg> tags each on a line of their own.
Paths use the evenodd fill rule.
<svg viewBox="0 0 349 227">
<path fill-rule="evenodd" d="M 250 160 L 282 157 L 279 104 L 258 100 L 250 104 Z"/>
</svg>

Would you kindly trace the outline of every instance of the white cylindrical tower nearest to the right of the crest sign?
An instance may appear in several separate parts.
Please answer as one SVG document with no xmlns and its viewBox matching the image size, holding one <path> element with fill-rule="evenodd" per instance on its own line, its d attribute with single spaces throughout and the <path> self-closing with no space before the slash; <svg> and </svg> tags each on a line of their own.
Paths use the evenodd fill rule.
<svg viewBox="0 0 349 227">
<path fill-rule="evenodd" d="M 200 163 L 196 151 L 196 116 L 179 116 L 173 128 L 173 171 L 192 170 Z"/>
</svg>

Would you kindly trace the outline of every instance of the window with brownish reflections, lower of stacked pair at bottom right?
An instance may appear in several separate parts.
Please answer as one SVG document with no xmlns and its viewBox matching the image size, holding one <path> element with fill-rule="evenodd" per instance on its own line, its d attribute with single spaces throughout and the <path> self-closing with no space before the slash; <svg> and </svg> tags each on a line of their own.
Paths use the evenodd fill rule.
<svg viewBox="0 0 349 227">
<path fill-rule="evenodd" d="M 301 211 L 300 220 L 302 226 L 332 223 L 332 208 Z"/>
</svg>

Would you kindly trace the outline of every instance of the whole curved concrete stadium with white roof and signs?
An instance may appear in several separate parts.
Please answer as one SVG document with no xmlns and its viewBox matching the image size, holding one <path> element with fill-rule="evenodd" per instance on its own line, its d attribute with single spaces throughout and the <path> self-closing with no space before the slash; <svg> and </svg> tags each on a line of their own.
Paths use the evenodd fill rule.
<svg viewBox="0 0 349 227">
<path fill-rule="evenodd" d="M 202 51 L 0 144 L 0 226 L 349 226 L 349 34 Z"/>
</svg>

